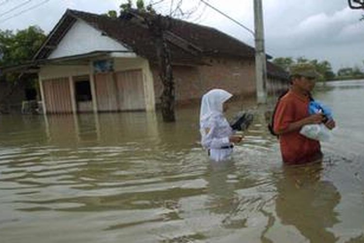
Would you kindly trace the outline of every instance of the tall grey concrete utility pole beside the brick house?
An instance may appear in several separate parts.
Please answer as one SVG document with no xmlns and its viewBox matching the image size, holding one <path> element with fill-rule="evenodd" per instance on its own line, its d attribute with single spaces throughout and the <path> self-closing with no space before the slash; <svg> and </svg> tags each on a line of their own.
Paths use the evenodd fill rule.
<svg viewBox="0 0 364 243">
<path fill-rule="evenodd" d="M 257 102 L 266 104 L 266 58 L 264 48 L 264 25 L 262 0 L 254 0 L 255 25 L 255 78 L 257 85 Z"/>
</svg>

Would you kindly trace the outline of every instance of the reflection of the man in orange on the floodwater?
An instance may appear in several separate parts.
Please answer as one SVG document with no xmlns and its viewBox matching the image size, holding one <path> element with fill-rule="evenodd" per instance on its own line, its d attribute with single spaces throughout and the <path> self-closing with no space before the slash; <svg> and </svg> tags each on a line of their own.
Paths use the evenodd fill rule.
<svg viewBox="0 0 364 243">
<path fill-rule="evenodd" d="M 330 228 L 339 222 L 334 208 L 341 196 L 331 181 L 321 179 L 322 170 L 321 163 L 284 166 L 276 182 L 276 211 L 281 223 L 295 226 L 313 243 L 338 240 Z"/>
</svg>

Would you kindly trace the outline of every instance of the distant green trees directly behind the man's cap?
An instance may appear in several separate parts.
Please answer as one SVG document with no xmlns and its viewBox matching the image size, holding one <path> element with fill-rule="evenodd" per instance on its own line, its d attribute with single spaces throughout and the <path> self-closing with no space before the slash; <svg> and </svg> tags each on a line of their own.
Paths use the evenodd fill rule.
<svg viewBox="0 0 364 243">
<path fill-rule="evenodd" d="M 332 71 L 331 63 L 329 61 L 319 62 L 316 59 L 309 60 L 305 57 L 298 57 L 293 59 L 292 57 L 278 57 L 273 59 L 273 63 L 280 66 L 286 71 L 289 71 L 290 67 L 300 63 L 308 63 L 314 66 L 316 71 L 320 74 L 318 81 L 327 81 L 335 78 L 335 73 Z"/>
</svg>

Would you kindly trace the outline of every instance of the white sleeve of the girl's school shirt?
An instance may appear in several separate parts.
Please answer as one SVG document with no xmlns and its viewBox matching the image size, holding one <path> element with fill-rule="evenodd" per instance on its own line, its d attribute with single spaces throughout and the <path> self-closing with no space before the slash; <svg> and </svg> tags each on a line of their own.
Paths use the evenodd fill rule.
<svg viewBox="0 0 364 243">
<path fill-rule="evenodd" d="M 217 138 L 218 126 L 216 122 L 212 122 L 208 128 L 201 131 L 201 144 L 208 149 L 219 149 L 224 146 L 229 146 L 231 143 L 229 137 Z"/>
</svg>

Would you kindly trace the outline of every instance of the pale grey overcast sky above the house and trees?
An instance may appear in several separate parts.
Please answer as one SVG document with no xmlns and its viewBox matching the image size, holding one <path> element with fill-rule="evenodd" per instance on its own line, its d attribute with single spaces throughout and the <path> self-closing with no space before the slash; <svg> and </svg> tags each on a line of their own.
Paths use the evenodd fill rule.
<svg viewBox="0 0 364 243">
<path fill-rule="evenodd" d="M 105 13 L 118 9 L 125 1 L 0 0 L 0 29 L 16 30 L 38 25 L 49 33 L 67 8 Z M 206 1 L 254 30 L 253 0 Z M 170 2 L 165 0 L 156 4 L 155 9 L 168 13 Z M 347 0 L 263 0 L 263 6 L 268 54 L 328 60 L 334 70 L 354 65 L 364 67 L 364 21 L 359 21 L 364 11 L 349 9 Z M 242 27 L 199 0 L 184 0 L 182 9 L 193 8 L 197 11 L 188 21 L 212 26 L 254 46 L 252 35 Z"/>
</svg>

